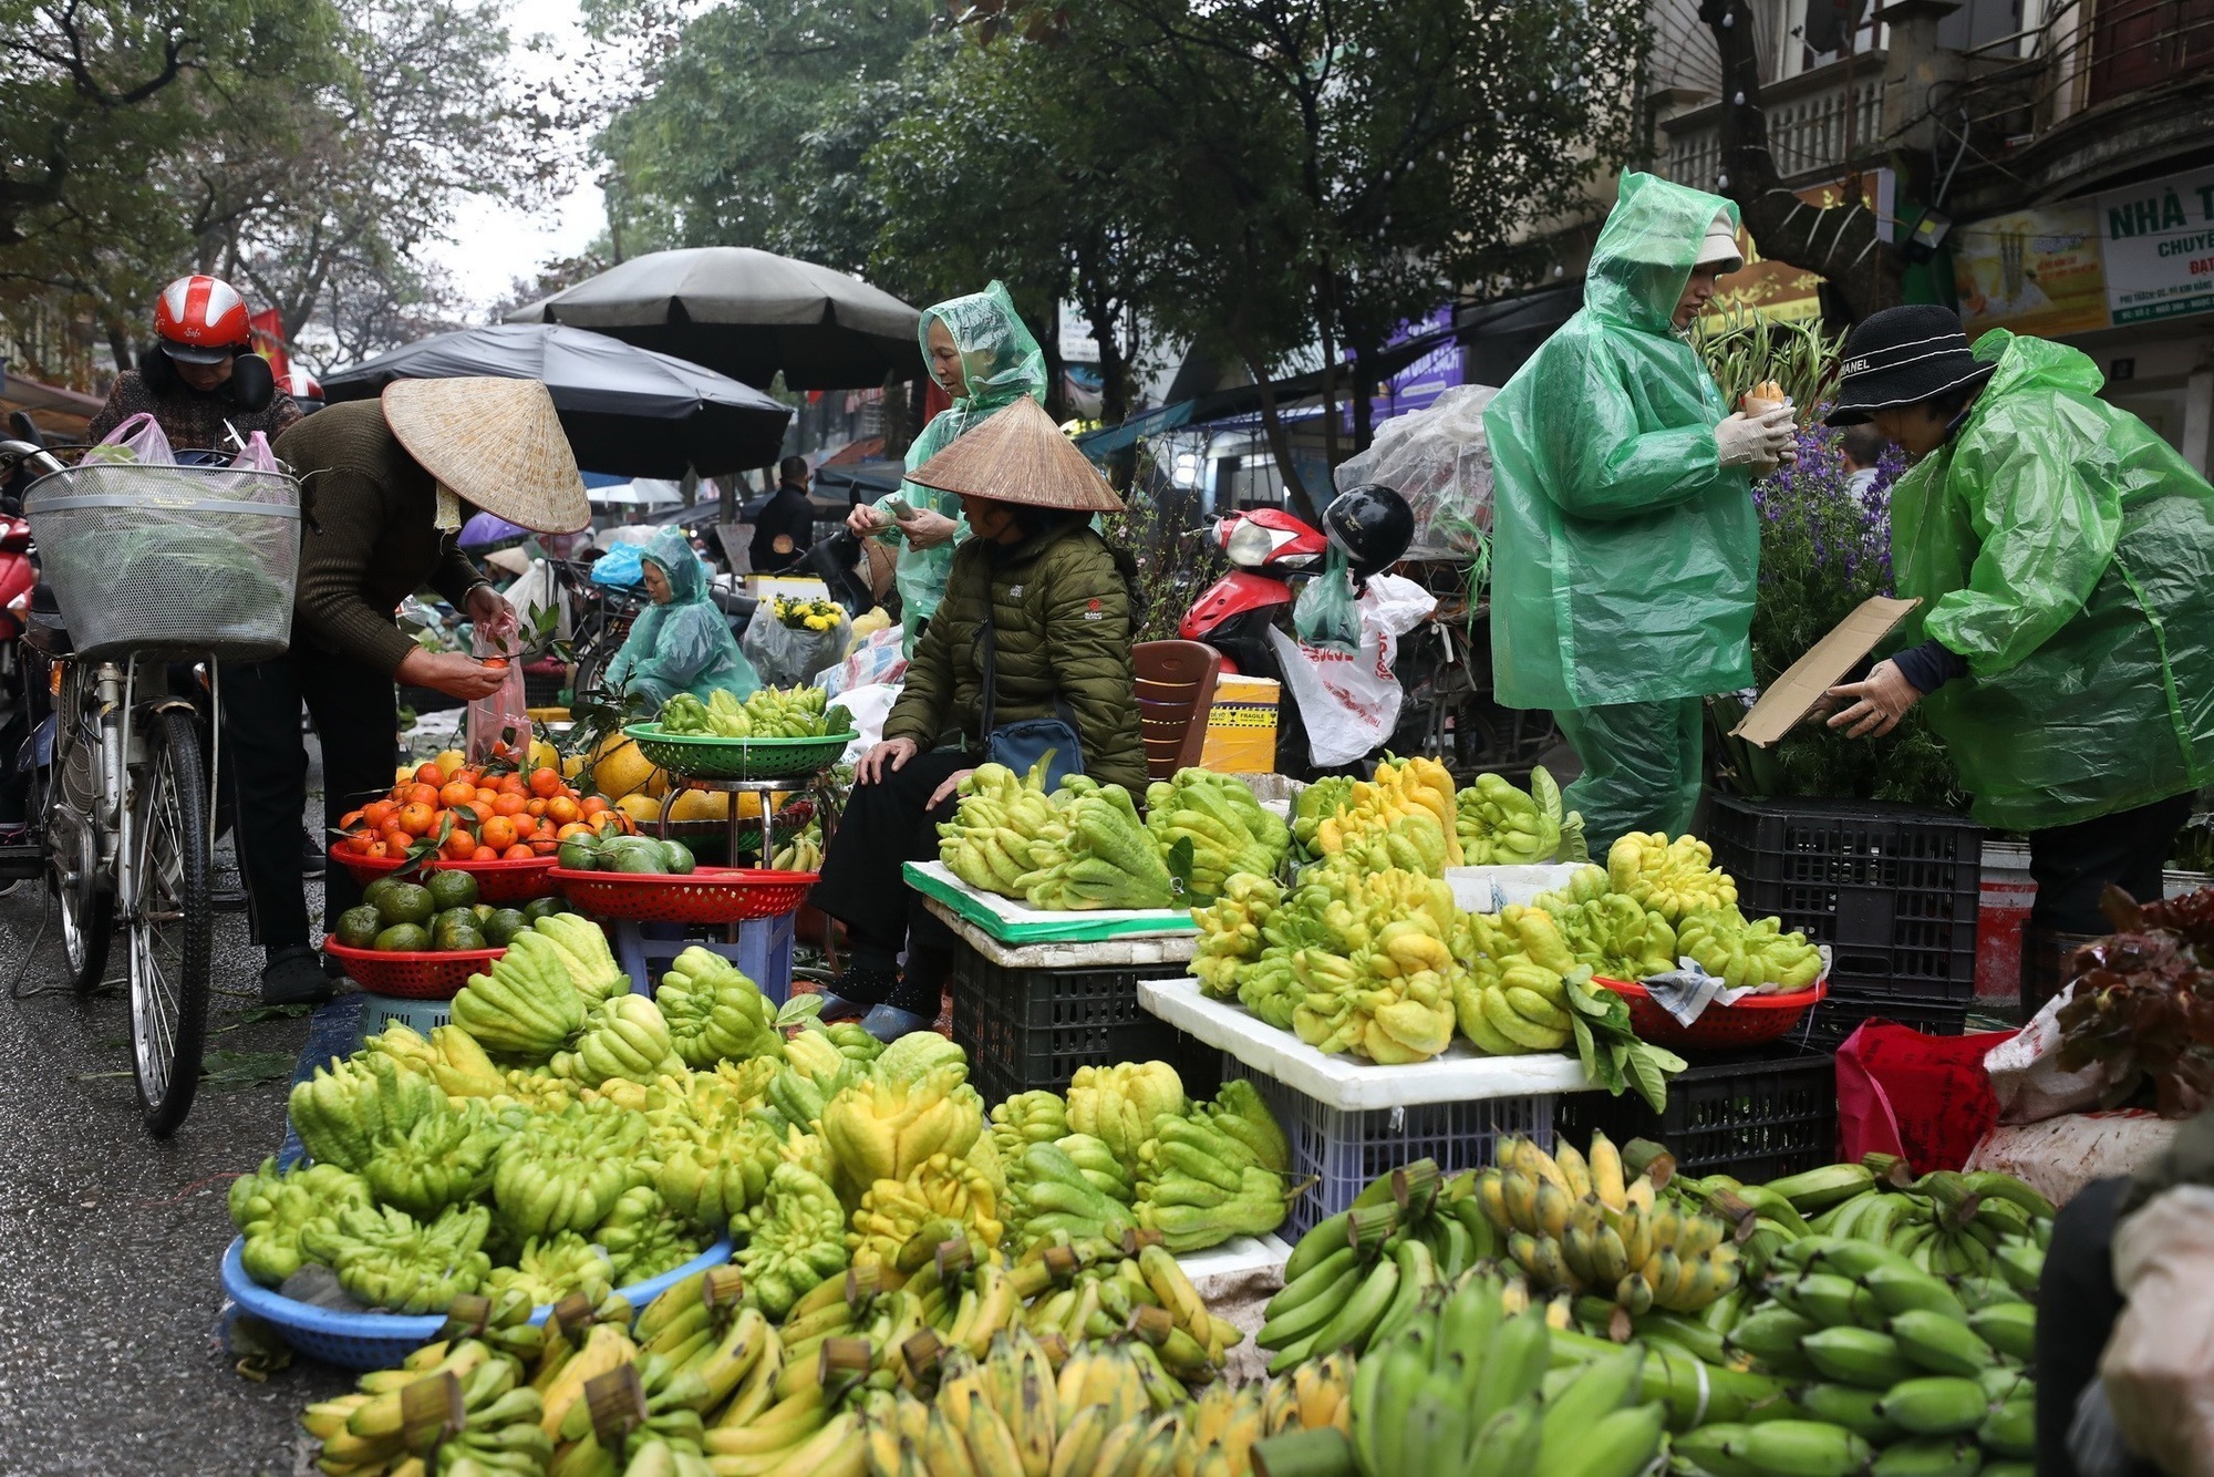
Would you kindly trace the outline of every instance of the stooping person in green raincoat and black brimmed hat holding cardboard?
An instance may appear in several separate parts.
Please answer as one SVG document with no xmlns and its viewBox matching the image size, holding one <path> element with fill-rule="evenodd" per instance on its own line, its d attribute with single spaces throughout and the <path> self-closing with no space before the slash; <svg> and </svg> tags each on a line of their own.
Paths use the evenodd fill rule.
<svg viewBox="0 0 2214 1477">
<path fill-rule="evenodd" d="M 1922 600 L 1829 722 L 1889 733 L 1922 702 L 1975 819 L 2028 833 L 2026 974 L 2039 939 L 2108 932 L 2108 884 L 2161 897 L 2214 779 L 2214 487 L 2101 383 L 2061 343 L 1995 328 L 1970 350 L 1951 310 L 1886 308 L 1844 341 L 1829 414 L 1915 458 L 1891 567 Z"/>
</svg>

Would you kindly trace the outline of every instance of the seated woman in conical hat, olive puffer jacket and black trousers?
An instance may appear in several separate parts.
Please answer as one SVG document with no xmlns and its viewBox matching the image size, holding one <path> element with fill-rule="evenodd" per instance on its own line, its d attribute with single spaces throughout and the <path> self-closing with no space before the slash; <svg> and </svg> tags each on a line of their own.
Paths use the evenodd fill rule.
<svg viewBox="0 0 2214 1477">
<path fill-rule="evenodd" d="M 899 868 L 937 859 L 939 822 L 952 819 L 954 786 L 983 764 L 987 724 L 1058 715 L 1076 729 L 1085 775 L 1134 795 L 1147 777 L 1129 585 L 1122 560 L 1089 527 L 1092 514 L 1120 509 L 1120 498 L 1030 399 L 954 441 L 912 481 L 961 498 L 970 540 L 954 554 L 883 742 L 855 768 L 852 799 L 810 892 L 852 939 L 852 963 L 824 1014 L 866 1012 L 863 1025 L 883 1041 L 925 1030 L 939 1014 L 952 934 Z"/>
</svg>

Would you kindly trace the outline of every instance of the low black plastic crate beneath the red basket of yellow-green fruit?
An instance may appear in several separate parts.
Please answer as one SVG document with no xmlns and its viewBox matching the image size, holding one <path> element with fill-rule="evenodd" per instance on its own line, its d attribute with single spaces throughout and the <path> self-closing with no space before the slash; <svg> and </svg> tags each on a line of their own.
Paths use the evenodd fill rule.
<svg viewBox="0 0 2214 1477">
<path fill-rule="evenodd" d="M 1665 1112 L 1634 1092 L 1576 1092 L 1554 1107 L 1552 1125 L 1579 1149 L 1603 1129 L 1616 1145 L 1667 1145 L 1683 1174 L 1773 1180 L 1838 1158 L 1838 1063 L 1831 1052 L 1769 1047 L 1672 1076 Z"/>
</svg>

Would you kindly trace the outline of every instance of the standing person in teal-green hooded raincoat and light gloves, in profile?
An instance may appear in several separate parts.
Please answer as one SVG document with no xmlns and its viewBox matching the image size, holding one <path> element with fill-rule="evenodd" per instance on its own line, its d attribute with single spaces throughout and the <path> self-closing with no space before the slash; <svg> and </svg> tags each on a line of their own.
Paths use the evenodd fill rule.
<svg viewBox="0 0 2214 1477">
<path fill-rule="evenodd" d="M 1753 680 L 1747 474 L 1791 454 L 1791 414 L 1731 414 L 1683 334 L 1740 266 L 1736 226 L 1720 195 L 1623 175 L 1583 310 L 1483 412 L 1492 682 L 1574 744 L 1594 855 L 1689 828 L 1703 698 Z"/>
</svg>

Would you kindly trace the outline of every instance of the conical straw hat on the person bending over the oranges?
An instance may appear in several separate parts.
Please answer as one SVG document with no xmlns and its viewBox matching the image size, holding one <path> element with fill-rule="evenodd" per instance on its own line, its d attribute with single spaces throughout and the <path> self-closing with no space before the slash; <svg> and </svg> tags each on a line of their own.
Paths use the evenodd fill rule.
<svg viewBox="0 0 2214 1477">
<path fill-rule="evenodd" d="M 385 425 L 425 472 L 465 503 L 534 534 L 591 523 L 576 452 L 536 379 L 396 379 Z"/>
</svg>

